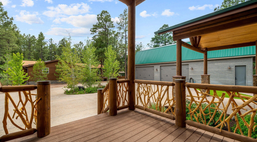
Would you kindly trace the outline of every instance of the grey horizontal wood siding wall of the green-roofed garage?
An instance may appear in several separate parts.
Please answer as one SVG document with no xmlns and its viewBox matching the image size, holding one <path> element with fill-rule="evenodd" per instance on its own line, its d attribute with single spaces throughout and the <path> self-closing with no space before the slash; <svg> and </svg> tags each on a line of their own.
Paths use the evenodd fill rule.
<svg viewBox="0 0 257 142">
<path fill-rule="evenodd" d="M 247 74 L 246 85 L 252 86 L 252 62 L 252 57 L 208 59 L 208 74 L 210 75 L 210 84 L 235 85 L 235 66 L 245 65 Z M 203 60 L 182 61 L 182 64 L 189 64 L 189 78 L 193 78 L 195 83 L 201 83 L 201 75 L 203 74 Z M 160 81 L 160 66 L 176 65 L 176 62 L 136 64 L 136 67 L 150 65 L 154 66 L 154 80 Z M 228 68 L 229 66 L 230 69 Z"/>
</svg>

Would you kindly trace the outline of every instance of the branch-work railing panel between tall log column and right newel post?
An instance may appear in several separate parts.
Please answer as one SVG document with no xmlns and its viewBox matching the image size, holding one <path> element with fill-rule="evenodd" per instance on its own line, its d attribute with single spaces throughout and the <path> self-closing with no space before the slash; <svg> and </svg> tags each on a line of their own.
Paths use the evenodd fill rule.
<svg viewBox="0 0 257 142">
<path fill-rule="evenodd" d="M 174 82 L 134 80 L 137 83 L 135 108 L 175 120 Z"/>
</svg>

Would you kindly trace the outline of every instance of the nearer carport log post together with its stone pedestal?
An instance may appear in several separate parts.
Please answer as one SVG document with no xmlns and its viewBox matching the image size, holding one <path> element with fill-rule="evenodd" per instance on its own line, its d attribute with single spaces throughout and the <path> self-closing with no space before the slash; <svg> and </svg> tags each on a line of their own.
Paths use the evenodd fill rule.
<svg viewBox="0 0 257 142">
<path fill-rule="evenodd" d="M 177 40 L 177 59 L 176 59 L 176 76 L 172 76 L 173 82 L 175 80 L 186 80 L 185 76 L 182 76 L 182 41 L 181 39 Z M 176 86 L 175 86 L 176 87 Z M 176 100 L 176 89 L 173 89 L 173 97 L 175 97 Z"/>
</svg>

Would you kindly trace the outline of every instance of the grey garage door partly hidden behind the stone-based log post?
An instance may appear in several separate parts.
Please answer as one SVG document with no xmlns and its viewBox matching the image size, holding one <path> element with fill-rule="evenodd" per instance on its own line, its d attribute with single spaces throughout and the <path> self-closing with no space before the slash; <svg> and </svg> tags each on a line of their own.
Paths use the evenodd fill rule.
<svg viewBox="0 0 257 142">
<path fill-rule="evenodd" d="M 176 65 L 160 66 L 160 81 L 172 82 L 172 76 L 176 76 Z M 186 82 L 189 82 L 189 65 L 182 65 L 182 76 L 186 76 Z"/>
</svg>

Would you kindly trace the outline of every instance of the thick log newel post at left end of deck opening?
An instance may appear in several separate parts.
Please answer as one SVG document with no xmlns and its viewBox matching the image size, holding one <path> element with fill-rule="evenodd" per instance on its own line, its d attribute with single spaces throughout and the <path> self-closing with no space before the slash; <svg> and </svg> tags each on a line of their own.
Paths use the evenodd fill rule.
<svg viewBox="0 0 257 142">
<path fill-rule="evenodd" d="M 45 137 L 51 131 L 50 81 L 37 82 L 37 137 Z"/>
</svg>

